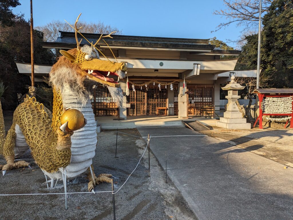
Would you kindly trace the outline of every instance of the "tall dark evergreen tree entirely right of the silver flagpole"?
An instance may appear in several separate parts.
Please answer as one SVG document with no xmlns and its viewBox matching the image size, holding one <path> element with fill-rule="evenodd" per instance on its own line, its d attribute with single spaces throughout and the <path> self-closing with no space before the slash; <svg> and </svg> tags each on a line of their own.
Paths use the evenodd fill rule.
<svg viewBox="0 0 293 220">
<path fill-rule="evenodd" d="M 293 0 L 275 0 L 263 19 L 263 63 L 276 88 L 293 88 Z"/>
</svg>

